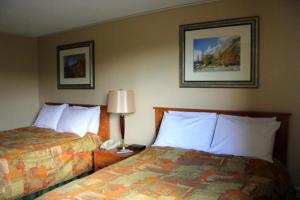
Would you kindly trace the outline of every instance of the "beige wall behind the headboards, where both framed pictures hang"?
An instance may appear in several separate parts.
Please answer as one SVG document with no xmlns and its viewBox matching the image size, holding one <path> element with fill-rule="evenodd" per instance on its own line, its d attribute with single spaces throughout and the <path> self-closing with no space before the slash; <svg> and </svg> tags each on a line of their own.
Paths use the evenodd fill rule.
<svg viewBox="0 0 300 200">
<path fill-rule="evenodd" d="M 126 118 L 126 141 L 150 144 L 153 106 L 292 112 L 289 170 L 300 184 L 300 1 L 221 0 L 40 38 L 40 103 L 105 104 L 109 90 L 133 89 L 137 112 Z M 179 88 L 178 25 L 260 16 L 259 89 Z M 58 90 L 56 46 L 95 40 L 96 89 Z M 111 135 L 119 135 L 112 117 Z"/>
</svg>

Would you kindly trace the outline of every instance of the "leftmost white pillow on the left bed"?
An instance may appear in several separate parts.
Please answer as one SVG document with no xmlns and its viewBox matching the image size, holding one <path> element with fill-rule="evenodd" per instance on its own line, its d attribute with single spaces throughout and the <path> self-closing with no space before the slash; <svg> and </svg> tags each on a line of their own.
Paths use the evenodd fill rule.
<svg viewBox="0 0 300 200">
<path fill-rule="evenodd" d="M 68 104 L 62 104 L 62 105 L 45 104 L 41 109 L 33 125 L 40 128 L 56 129 L 57 123 L 62 115 L 62 112 L 66 107 L 68 107 Z"/>
</svg>

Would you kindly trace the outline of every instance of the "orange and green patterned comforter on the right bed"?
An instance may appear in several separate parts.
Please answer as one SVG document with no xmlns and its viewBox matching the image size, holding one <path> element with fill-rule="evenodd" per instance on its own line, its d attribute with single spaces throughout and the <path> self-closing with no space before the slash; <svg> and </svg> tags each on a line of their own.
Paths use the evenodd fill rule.
<svg viewBox="0 0 300 200">
<path fill-rule="evenodd" d="M 281 199 L 287 187 L 279 162 L 151 147 L 39 200 Z"/>
</svg>

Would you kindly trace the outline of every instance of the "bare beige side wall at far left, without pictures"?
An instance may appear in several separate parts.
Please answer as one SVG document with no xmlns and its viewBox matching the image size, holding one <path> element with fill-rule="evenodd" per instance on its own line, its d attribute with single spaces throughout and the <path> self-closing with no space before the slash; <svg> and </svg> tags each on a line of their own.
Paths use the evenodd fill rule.
<svg viewBox="0 0 300 200">
<path fill-rule="evenodd" d="M 0 130 L 31 125 L 39 107 L 37 39 L 0 34 Z"/>
</svg>

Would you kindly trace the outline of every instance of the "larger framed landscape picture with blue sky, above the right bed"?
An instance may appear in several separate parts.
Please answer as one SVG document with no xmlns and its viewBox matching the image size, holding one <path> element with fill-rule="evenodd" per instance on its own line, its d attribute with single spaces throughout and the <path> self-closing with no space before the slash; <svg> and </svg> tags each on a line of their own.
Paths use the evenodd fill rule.
<svg viewBox="0 0 300 200">
<path fill-rule="evenodd" d="M 180 87 L 258 87 L 259 17 L 181 25 Z"/>
</svg>

